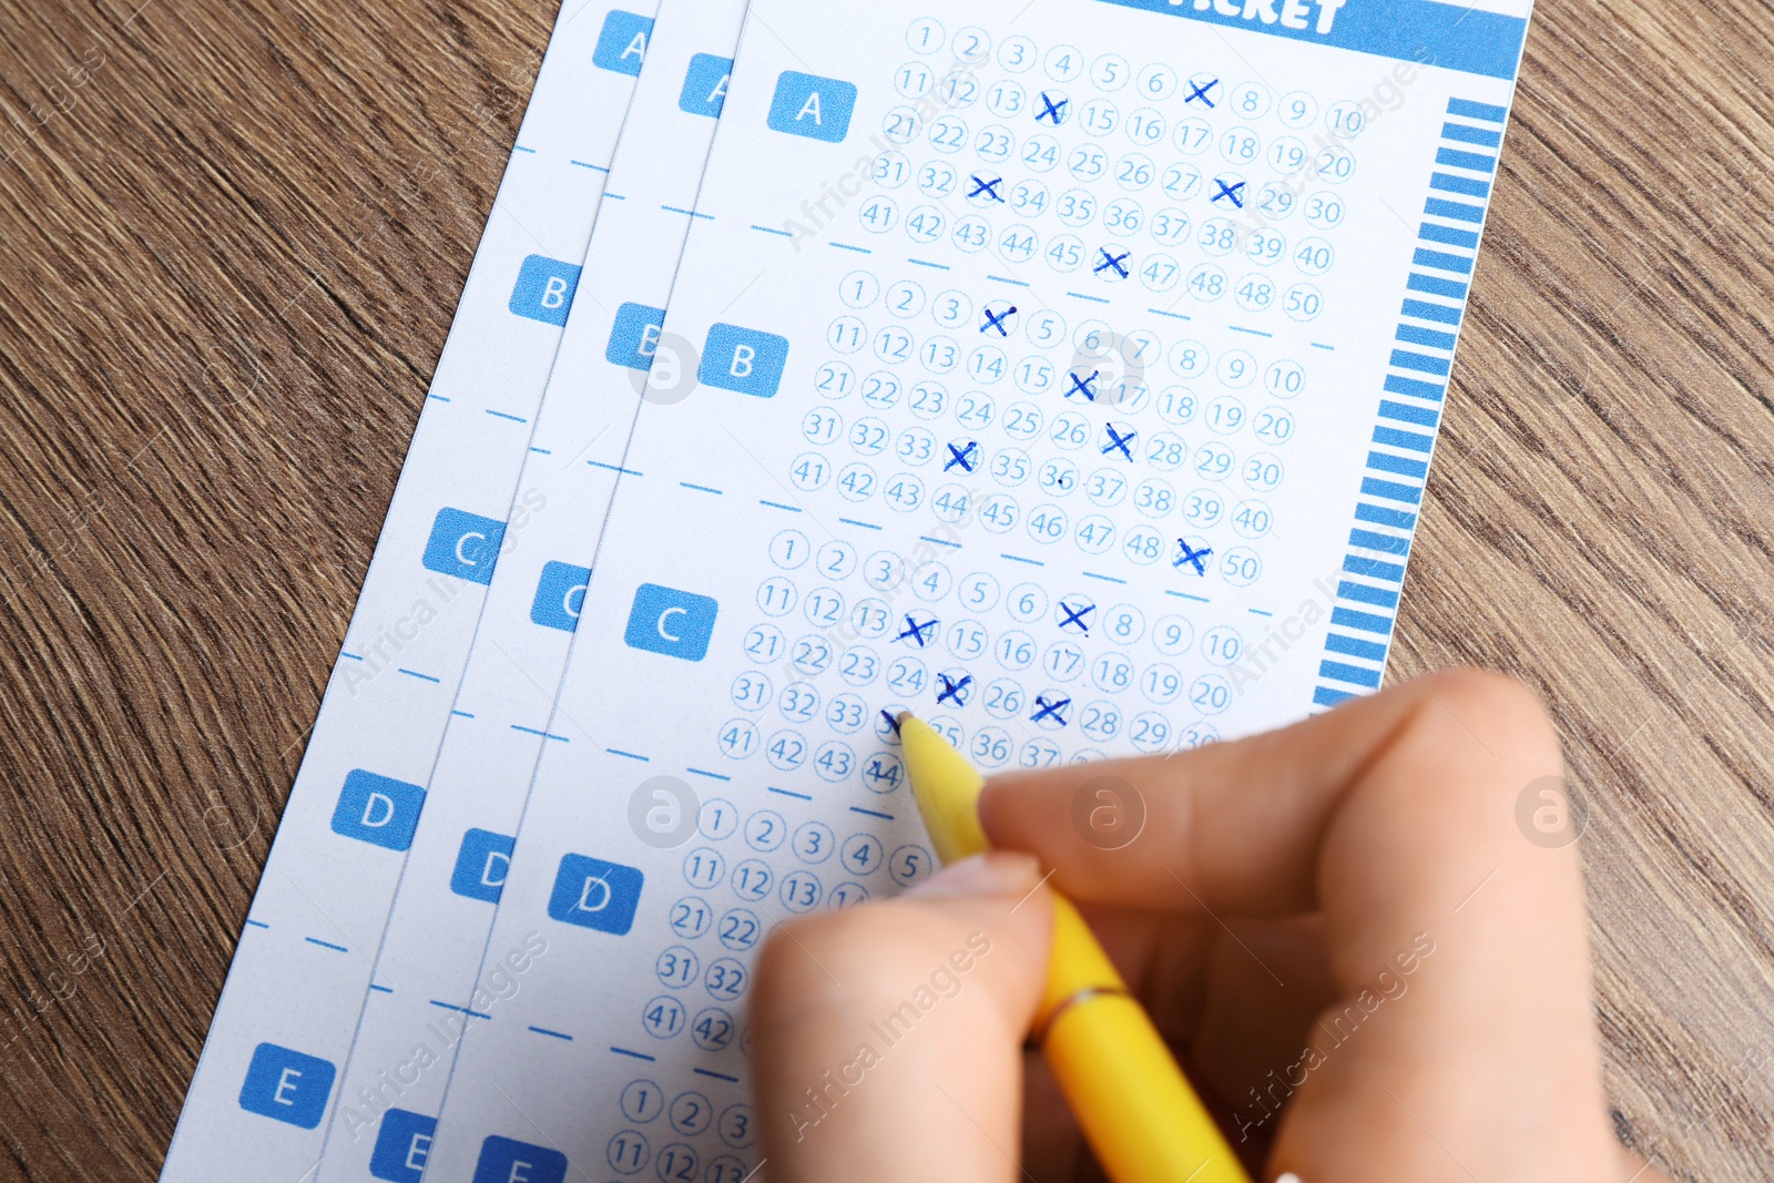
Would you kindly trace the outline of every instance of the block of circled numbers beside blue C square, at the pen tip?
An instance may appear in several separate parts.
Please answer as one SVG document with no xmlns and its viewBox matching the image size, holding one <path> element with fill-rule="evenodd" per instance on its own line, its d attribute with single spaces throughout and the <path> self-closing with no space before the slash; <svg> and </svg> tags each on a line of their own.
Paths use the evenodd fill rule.
<svg viewBox="0 0 1774 1183">
<path fill-rule="evenodd" d="M 1183 605 L 1148 614 L 1032 582 L 1004 589 L 986 571 L 914 564 L 887 550 L 864 555 L 839 539 L 814 546 L 795 529 L 770 541 L 770 560 L 777 573 L 756 591 L 757 617 L 729 686 L 738 713 L 722 724 L 720 748 L 729 759 L 761 752 L 793 772 L 805 752 L 873 741 L 876 750 L 850 768 L 852 784 L 876 798 L 905 786 L 894 752 L 901 709 L 985 768 L 1210 741 L 1208 720 L 1235 697 L 1228 670 L 1249 644 L 1231 624 L 1197 628 Z M 777 825 L 772 842 L 805 839 L 802 858 L 836 851 L 857 890 L 876 866 L 899 885 L 928 866 L 922 848 L 887 851 L 862 834 L 839 842 L 818 823 Z M 814 896 L 781 903 L 818 906 Z"/>
</svg>

